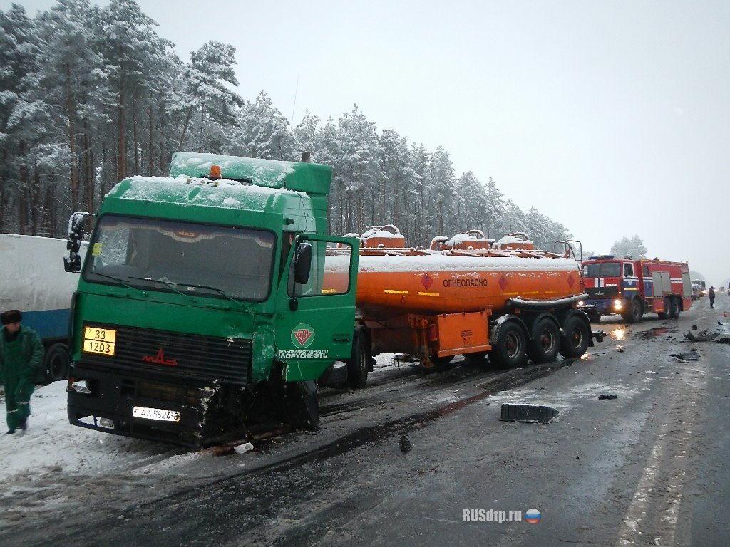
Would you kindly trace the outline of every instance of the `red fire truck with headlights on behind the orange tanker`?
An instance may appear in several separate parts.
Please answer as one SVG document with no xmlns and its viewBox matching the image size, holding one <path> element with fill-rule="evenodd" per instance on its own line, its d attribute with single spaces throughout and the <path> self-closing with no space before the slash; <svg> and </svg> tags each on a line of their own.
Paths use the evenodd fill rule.
<svg viewBox="0 0 730 547">
<path fill-rule="evenodd" d="M 631 323 L 651 313 L 674 319 L 692 305 L 685 262 L 594 256 L 583 262 L 583 277 L 589 298 L 582 308 L 593 322 L 607 314 L 621 314 Z"/>
</svg>

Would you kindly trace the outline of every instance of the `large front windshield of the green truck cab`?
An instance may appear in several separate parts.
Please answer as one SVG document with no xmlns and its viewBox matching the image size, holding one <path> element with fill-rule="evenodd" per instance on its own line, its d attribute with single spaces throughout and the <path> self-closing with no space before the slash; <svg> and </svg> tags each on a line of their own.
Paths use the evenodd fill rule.
<svg viewBox="0 0 730 547">
<path fill-rule="evenodd" d="M 271 287 L 274 234 L 264 230 L 104 215 L 89 249 L 88 282 L 254 302 Z"/>
</svg>

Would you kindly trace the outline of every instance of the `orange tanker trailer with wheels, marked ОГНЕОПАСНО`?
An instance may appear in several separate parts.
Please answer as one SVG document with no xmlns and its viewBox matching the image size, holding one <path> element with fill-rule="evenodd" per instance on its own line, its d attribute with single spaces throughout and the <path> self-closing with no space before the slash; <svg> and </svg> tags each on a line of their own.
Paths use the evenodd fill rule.
<svg viewBox="0 0 730 547">
<path fill-rule="evenodd" d="M 429 249 L 404 244 L 392 225 L 361 236 L 350 385 L 364 385 L 371 352 L 414 354 L 426 367 L 488 354 L 517 367 L 580 357 L 602 339 L 577 309 L 588 297 L 567 243 L 558 254 L 534 249 L 523 233 L 494 241 L 469 230 Z"/>
</svg>

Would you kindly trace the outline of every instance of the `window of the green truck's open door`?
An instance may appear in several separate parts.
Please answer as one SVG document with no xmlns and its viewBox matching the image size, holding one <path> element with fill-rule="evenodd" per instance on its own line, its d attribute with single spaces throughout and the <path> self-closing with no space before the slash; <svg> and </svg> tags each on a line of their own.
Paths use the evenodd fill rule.
<svg viewBox="0 0 730 547">
<path fill-rule="evenodd" d="M 309 241 L 312 244 L 312 267 L 307 284 L 290 283 L 296 297 L 342 295 L 350 290 L 350 245 L 334 241 Z M 290 279 L 293 271 L 290 273 Z M 293 288 L 292 288 L 293 285 Z"/>
</svg>

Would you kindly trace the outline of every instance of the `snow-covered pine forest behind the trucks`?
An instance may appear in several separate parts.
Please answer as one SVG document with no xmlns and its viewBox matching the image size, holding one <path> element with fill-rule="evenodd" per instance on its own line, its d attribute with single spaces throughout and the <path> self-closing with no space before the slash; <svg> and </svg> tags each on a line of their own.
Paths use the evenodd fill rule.
<svg viewBox="0 0 730 547">
<path fill-rule="evenodd" d="M 456 174 L 443 147 L 378 131 L 357 105 L 294 125 L 265 91 L 242 98 L 234 47 L 206 42 L 183 61 L 133 0 L 58 0 L 34 17 L 14 4 L 0 27 L 0 232 L 65 237 L 71 212 L 95 212 L 126 176 L 164 176 L 178 150 L 293 161 L 308 151 L 334 170 L 330 233 L 394 224 L 417 245 L 522 231 L 542 248 L 569 238 L 491 178 Z"/>
</svg>

